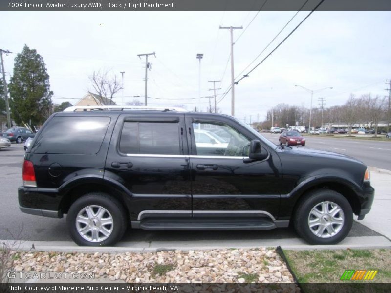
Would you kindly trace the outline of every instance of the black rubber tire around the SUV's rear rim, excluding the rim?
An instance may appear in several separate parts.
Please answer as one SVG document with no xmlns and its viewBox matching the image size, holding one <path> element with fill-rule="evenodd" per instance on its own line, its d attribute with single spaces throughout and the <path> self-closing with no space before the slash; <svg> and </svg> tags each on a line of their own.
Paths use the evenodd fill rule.
<svg viewBox="0 0 391 293">
<path fill-rule="evenodd" d="M 89 205 L 98 205 L 107 209 L 113 218 L 113 231 L 110 236 L 101 242 L 89 242 L 84 239 L 76 230 L 75 220 L 81 209 Z M 88 193 L 77 199 L 69 208 L 66 216 L 66 224 L 73 241 L 80 246 L 108 246 L 121 240 L 126 230 L 126 214 L 121 204 L 114 198 L 105 193 Z"/>
</svg>

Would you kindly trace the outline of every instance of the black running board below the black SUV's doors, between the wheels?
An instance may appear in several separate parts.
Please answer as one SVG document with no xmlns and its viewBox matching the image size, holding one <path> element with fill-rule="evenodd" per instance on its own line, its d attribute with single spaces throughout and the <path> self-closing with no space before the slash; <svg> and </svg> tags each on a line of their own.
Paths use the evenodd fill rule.
<svg viewBox="0 0 391 293">
<path fill-rule="evenodd" d="M 148 218 L 140 221 L 139 226 L 143 230 L 271 230 L 277 227 L 280 225 L 268 218 Z"/>
</svg>

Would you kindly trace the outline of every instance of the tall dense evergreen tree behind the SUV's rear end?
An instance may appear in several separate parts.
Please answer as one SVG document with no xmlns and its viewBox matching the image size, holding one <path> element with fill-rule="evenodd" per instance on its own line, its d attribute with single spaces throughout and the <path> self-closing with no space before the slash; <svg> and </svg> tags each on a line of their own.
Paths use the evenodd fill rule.
<svg viewBox="0 0 391 293">
<path fill-rule="evenodd" d="M 13 119 L 17 124 L 31 120 L 33 125 L 40 125 L 51 114 L 53 92 L 43 57 L 37 54 L 37 50 L 24 45 L 15 58 L 8 87 Z"/>
</svg>

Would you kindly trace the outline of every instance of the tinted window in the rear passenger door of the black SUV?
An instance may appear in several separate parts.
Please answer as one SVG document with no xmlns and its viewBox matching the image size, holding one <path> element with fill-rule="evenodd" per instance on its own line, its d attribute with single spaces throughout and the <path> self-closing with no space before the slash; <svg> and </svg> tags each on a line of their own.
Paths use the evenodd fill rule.
<svg viewBox="0 0 391 293">
<path fill-rule="evenodd" d="M 178 123 L 125 122 L 119 151 L 125 154 L 180 155 Z"/>
</svg>

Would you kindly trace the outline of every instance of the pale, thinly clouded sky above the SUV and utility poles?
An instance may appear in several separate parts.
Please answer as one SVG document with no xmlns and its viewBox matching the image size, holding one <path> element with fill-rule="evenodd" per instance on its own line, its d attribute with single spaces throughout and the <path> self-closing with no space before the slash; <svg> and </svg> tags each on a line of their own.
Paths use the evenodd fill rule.
<svg viewBox="0 0 391 293">
<path fill-rule="evenodd" d="M 0 11 L 0 48 L 7 80 L 14 58 L 27 44 L 43 56 L 54 92 L 53 102 L 74 104 L 92 84 L 94 71 L 108 70 L 121 80 L 117 104 L 144 101 L 144 57 L 150 56 L 148 105 L 195 106 L 206 111 L 216 83 L 217 107 L 231 113 L 229 30 L 234 30 L 234 68 L 238 80 L 266 57 L 309 13 L 299 12 L 264 50 L 296 11 Z M 391 11 L 315 11 L 303 24 L 235 86 L 235 116 L 263 121 L 279 103 L 313 107 L 342 105 L 350 93 L 387 95 L 391 79 Z M 259 56 L 261 51 L 264 52 Z M 202 53 L 199 67 L 196 54 Z M 257 56 L 259 56 L 257 58 Z M 252 63 L 255 60 L 254 63 Z M 251 64 L 252 63 L 252 64 Z M 251 64 L 251 65 L 250 65 Z M 249 66 L 250 65 L 250 66 Z M 246 69 L 247 67 L 247 69 Z M 199 91 L 200 68 L 200 91 Z M 333 89 L 318 89 L 333 87 Z M 122 96 L 124 98 L 122 98 Z M 134 98 L 134 96 L 141 96 Z M 223 99 L 221 99 L 224 97 Z M 200 103 L 201 102 L 201 103 Z M 213 103 L 213 98 L 211 100 Z"/>
</svg>

